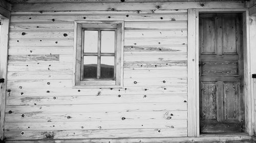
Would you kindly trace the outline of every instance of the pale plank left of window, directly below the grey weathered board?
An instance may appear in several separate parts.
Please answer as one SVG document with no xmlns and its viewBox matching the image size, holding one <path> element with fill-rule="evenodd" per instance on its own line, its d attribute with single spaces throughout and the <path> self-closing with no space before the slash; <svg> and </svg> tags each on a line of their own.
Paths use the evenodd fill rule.
<svg viewBox="0 0 256 143">
<path fill-rule="evenodd" d="M 72 64 L 59 63 L 17 63 L 9 64 L 8 72 L 15 71 L 69 71 L 73 69 Z"/>
</svg>

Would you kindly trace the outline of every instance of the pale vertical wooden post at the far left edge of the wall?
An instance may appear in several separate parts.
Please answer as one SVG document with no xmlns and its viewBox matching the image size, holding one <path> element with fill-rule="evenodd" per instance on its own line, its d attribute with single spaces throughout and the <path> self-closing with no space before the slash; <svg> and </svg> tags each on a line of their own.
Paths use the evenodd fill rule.
<svg viewBox="0 0 256 143">
<path fill-rule="evenodd" d="M 7 83 L 7 60 L 8 60 L 9 19 L 1 19 L 0 35 L 0 78 L 5 78 L 0 89 L 0 139 L 4 139 L 6 83 Z"/>
</svg>

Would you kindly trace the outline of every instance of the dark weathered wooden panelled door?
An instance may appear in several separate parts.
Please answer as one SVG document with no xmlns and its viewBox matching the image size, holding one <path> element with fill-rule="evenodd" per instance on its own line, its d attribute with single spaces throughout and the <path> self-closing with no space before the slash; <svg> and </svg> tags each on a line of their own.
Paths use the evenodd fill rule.
<svg viewBox="0 0 256 143">
<path fill-rule="evenodd" d="M 244 132 L 242 16 L 200 14 L 200 132 Z"/>
</svg>

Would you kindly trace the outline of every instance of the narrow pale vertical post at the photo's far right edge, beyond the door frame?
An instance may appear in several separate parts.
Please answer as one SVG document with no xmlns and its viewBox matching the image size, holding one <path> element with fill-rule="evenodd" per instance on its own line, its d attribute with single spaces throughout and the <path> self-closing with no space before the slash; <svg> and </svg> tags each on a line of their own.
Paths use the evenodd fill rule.
<svg viewBox="0 0 256 143">
<path fill-rule="evenodd" d="M 256 16 L 250 16 L 249 18 L 249 31 L 250 31 L 250 57 L 251 57 L 251 74 L 256 73 Z M 252 104 L 252 127 L 253 127 L 253 133 L 255 134 L 256 132 L 256 126 L 255 126 L 255 119 L 256 119 L 256 114 L 254 111 L 254 100 L 256 99 L 256 78 L 252 79 L 251 82 L 251 95 L 253 96 L 251 100 Z M 254 122 L 253 122 L 254 121 Z"/>
</svg>

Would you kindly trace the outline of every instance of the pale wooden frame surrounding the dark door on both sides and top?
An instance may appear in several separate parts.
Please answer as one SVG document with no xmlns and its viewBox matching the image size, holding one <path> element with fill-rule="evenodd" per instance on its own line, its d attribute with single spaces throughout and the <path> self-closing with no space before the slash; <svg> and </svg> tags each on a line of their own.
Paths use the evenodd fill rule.
<svg viewBox="0 0 256 143">
<path fill-rule="evenodd" d="M 199 110 L 199 14 L 200 13 L 242 13 L 243 23 L 243 54 L 244 54 L 244 104 L 245 104 L 245 132 L 253 134 L 254 100 L 253 79 L 251 78 L 251 49 L 249 35 L 248 9 L 188 9 L 187 25 L 187 94 L 188 94 L 188 137 L 200 136 Z M 196 108 L 195 108 L 196 107 Z"/>
</svg>

